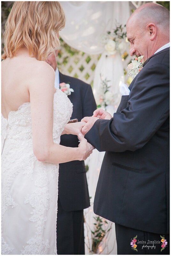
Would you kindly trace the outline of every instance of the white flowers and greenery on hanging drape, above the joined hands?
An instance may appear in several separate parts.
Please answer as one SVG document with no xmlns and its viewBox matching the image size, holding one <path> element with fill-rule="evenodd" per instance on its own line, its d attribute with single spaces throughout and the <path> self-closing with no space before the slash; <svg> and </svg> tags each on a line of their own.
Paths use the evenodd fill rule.
<svg viewBox="0 0 171 256">
<path fill-rule="evenodd" d="M 113 100 L 114 100 L 114 94 L 109 91 L 110 86 L 108 86 L 108 82 L 110 80 L 107 80 L 107 78 L 102 79 L 102 76 L 100 75 L 101 78 L 101 88 L 99 91 L 99 100 L 97 103 L 97 108 L 106 108 L 108 105 L 113 105 Z"/>
</svg>

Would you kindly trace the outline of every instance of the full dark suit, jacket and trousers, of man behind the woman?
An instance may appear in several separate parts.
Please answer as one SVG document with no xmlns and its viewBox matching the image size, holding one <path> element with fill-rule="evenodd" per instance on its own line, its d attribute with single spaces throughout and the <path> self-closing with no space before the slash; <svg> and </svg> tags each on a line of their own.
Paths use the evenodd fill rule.
<svg viewBox="0 0 171 256">
<path fill-rule="evenodd" d="M 96 102 L 91 86 L 83 81 L 59 72 L 59 83 L 68 83 L 74 92 L 68 96 L 73 103 L 71 119 L 78 121 L 84 116 L 92 116 Z M 78 147 L 75 135 L 62 135 L 61 145 Z M 83 209 L 90 206 L 89 191 L 84 161 L 59 164 L 57 253 L 85 254 Z"/>
</svg>

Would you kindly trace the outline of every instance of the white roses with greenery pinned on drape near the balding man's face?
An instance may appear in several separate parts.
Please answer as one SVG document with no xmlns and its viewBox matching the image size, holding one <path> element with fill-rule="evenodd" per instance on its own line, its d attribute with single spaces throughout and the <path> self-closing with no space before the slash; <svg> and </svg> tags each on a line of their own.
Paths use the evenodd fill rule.
<svg viewBox="0 0 171 256">
<path fill-rule="evenodd" d="M 124 32 L 124 27 L 122 25 L 116 25 L 113 31 L 107 31 L 104 36 L 102 43 L 105 45 L 106 57 L 110 55 L 115 55 L 117 52 L 122 54 L 126 49 L 126 32 Z"/>
</svg>

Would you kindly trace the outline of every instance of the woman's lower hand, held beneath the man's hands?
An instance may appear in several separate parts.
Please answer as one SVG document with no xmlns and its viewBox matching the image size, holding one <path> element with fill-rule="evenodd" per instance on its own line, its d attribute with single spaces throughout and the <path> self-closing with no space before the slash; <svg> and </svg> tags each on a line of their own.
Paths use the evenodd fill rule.
<svg viewBox="0 0 171 256">
<path fill-rule="evenodd" d="M 87 157 L 93 152 L 94 147 L 87 142 L 82 133 L 78 134 L 78 138 L 80 140 L 80 144 L 78 145 L 81 157 L 80 160 L 86 160 Z"/>
</svg>

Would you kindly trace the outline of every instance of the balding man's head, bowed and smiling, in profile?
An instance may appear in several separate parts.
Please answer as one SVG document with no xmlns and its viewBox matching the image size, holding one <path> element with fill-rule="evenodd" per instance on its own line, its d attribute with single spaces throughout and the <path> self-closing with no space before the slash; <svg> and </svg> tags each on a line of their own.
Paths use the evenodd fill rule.
<svg viewBox="0 0 171 256">
<path fill-rule="evenodd" d="M 147 3 L 138 7 L 127 21 L 130 55 L 151 57 L 169 42 L 170 12 L 160 4 Z"/>
</svg>

